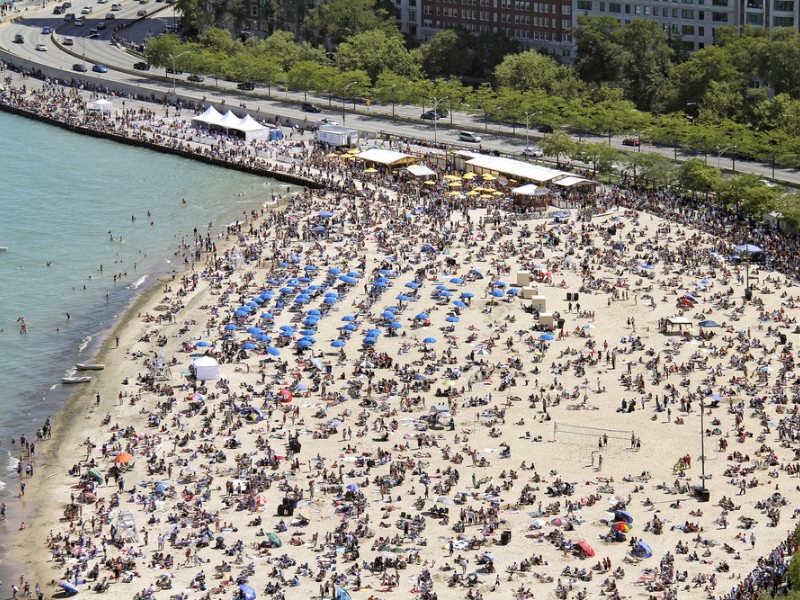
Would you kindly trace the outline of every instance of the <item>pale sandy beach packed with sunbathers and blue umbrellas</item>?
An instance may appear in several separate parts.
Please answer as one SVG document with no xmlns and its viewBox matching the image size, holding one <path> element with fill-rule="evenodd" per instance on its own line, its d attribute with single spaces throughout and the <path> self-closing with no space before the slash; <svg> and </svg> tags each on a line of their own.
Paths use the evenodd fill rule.
<svg viewBox="0 0 800 600">
<path fill-rule="evenodd" d="M 793 551 L 800 299 L 758 252 L 615 192 L 515 221 L 305 152 L 331 189 L 198 235 L 37 441 L 23 585 L 749 597 Z"/>
</svg>

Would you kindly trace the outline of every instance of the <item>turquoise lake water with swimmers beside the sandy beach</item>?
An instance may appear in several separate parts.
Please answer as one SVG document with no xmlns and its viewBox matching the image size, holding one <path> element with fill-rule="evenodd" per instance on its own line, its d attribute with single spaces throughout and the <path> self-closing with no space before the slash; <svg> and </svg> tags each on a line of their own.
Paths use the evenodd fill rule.
<svg viewBox="0 0 800 600">
<path fill-rule="evenodd" d="M 184 236 L 209 223 L 221 231 L 285 191 L 0 113 L 0 448 L 58 411 L 60 377 L 90 359 L 92 340 L 137 291 L 183 264 L 175 253 Z M 0 451 L 0 486 L 13 471 Z"/>
</svg>

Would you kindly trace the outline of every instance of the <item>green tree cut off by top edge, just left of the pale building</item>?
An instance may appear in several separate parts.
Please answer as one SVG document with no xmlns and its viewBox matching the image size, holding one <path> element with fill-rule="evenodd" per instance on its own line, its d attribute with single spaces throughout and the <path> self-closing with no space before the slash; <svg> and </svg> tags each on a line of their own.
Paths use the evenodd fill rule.
<svg viewBox="0 0 800 600">
<path fill-rule="evenodd" d="M 320 2 L 303 20 L 302 33 L 307 40 L 338 45 L 347 38 L 378 29 L 390 36 L 400 36 L 389 11 L 375 0 L 329 0 Z"/>
</svg>

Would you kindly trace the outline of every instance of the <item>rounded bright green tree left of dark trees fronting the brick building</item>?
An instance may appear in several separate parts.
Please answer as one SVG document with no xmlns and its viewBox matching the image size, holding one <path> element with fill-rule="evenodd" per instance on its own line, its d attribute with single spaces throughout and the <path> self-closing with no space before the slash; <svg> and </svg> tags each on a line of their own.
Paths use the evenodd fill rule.
<svg viewBox="0 0 800 600">
<path fill-rule="evenodd" d="M 339 44 L 336 64 L 342 70 L 366 71 L 372 81 L 386 69 L 409 78 L 420 73 L 403 39 L 380 29 L 358 33 Z"/>
</svg>

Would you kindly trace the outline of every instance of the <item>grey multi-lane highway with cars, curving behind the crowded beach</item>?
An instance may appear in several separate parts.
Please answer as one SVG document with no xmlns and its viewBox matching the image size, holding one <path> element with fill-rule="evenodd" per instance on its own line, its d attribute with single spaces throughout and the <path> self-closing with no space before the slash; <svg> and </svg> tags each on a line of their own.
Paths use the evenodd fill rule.
<svg viewBox="0 0 800 600">
<path fill-rule="evenodd" d="M 27 0 L 26 0 L 27 1 Z M 73 70 L 76 64 L 86 64 L 92 77 L 102 77 L 105 80 L 124 85 L 135 93 L 154 93 L 157 97 L 170 97 L 173 75 L 167 75 L 161 69 L 150 71 L 136 71 L 133 65 L 142 60 L 127 52 L 121 46 L 112 43 L 111 37 L 115 27 L 124 27 L 119 31 L 119 36 L 133 44 L 143 43 L 146 36 L 159 34 L 166 31 L 168 25 L 177 20 L 175 5 L 149 0 L 146 3 L 134 0 L 118 0 L 119 10 L 112 10 L 113 0 L 78 0 L 73 6 L 66 9 L 66 13 L 84 16 L 85 23 L 77 24 L 75 21 L 66 22 L 63 15 L 53 14 L 53 9 L 59 3 L 50 2 L 44 8 L 34 7 L 32 2 L 22 4 L 25 7 L 15 21 L 6 20 L 0 24 L 0 47 L 12 54 L 34 61 L 38 64 L 48 65 L 64 71 L 64 78 L 74 77 L 80 79 L 81 73 Z M 81 15 L 84 7 L 91 7 L 91 13 Z M 113 19 L 106 16 L 113 14 Z M 98 25 L 105 24 L 105 29 Z M 44 27 L 50 27 L 52 33 L 42 33 Z M 96 31 L 95 31 L 96 30 Z M 90 34 L 90 32 L 95 33 Z M 16 35 L 22 35 L 24 43 L 14 43 Z M 65 38 L 72 38 L 73 45 L 65 46 Z M 47 45 L 46 52 L 37 51 L 36 44 Z M 107 73 L 91 72 L 93 65 L 101 64 L 108 68 Z M 334 99 L 332 103 L 327 98 L 316 97 L 311 94 L 307 99 L 319 106 L 322 113 L 305 113 L 300 110 L 299 103 L 306 99 L 303 92 L 291 92 L 272 88 L 271 98 L 267 98 L 267 88 L 258 87 L 254 92 L 241 92 L 236 89 L 236 83 L 230 81 L 216 81 L 213 77 L 206 76 L 203 83 L 189 83 L 186 81 L 188 73 L 174 76 L 177 84 L 177 93 L 185 99 L 196 101 L 213 101 L 228 106 L 240 108 L 244 105 L 256 117 L 273 120 L 280 116 L 282 122 L 287 119 L 292 123 L 317 122 L 324 117 L 335 120 L 340 124 L 358 129 L 371 137 L 381 132 L 405 136 L 416 139 L 434 138 L 439 143 L 454 144 L 464 148 L 477 149 L 477 144 L 458 142 L 458 131 L 468 130 L 482 136 L 481 146 L 484 150 L 497 150 L 508 154 L 519 154 L 525 147 L 525 128 L 516 127 L 516 135 L 512 135 L 512 127 L 498 123 L 489 123 L 489 130 L 482 118 L 478 115 L 465 112 L 454 112 L 451 116 L 442 119 L 438 124 L 432 121 L 419 119 L 422 108 L 412 105 L 373 105 L 353 103 L 345 105 L 342 113 L 342 101 Z M 426 107 L 426 110 L 430 107 Z M 394 110 L 395 117 L 392 117 Z M 541 134 L 531 126 L 529 131 L 530 144 L 535 145 Z M 607 143 L 607 138 L 602 136 L 582 136 L 584 141 Z M 623 137 L 612 138 L 611 144 L 619 149 L 631 151 L 630 147 L 622 145 Z M 656 152 L 673 158 L 673 149 L 658 146 L 642 146 L 641 152 Z M 678 159 L 686 159 L 690 155 L 678 153 Z M 723 170 L 731 171 L 733 163 L 729 156 L 709 155 L 709 164 L 719 166 Z M 793 186 L 800 186 L 800 173 L 796 170 L 776 169 L 770 165 L 751 161 L 736 161 L 738 172 L 751 172 L 765 179 L 775 179 Z"/>
</svg>

